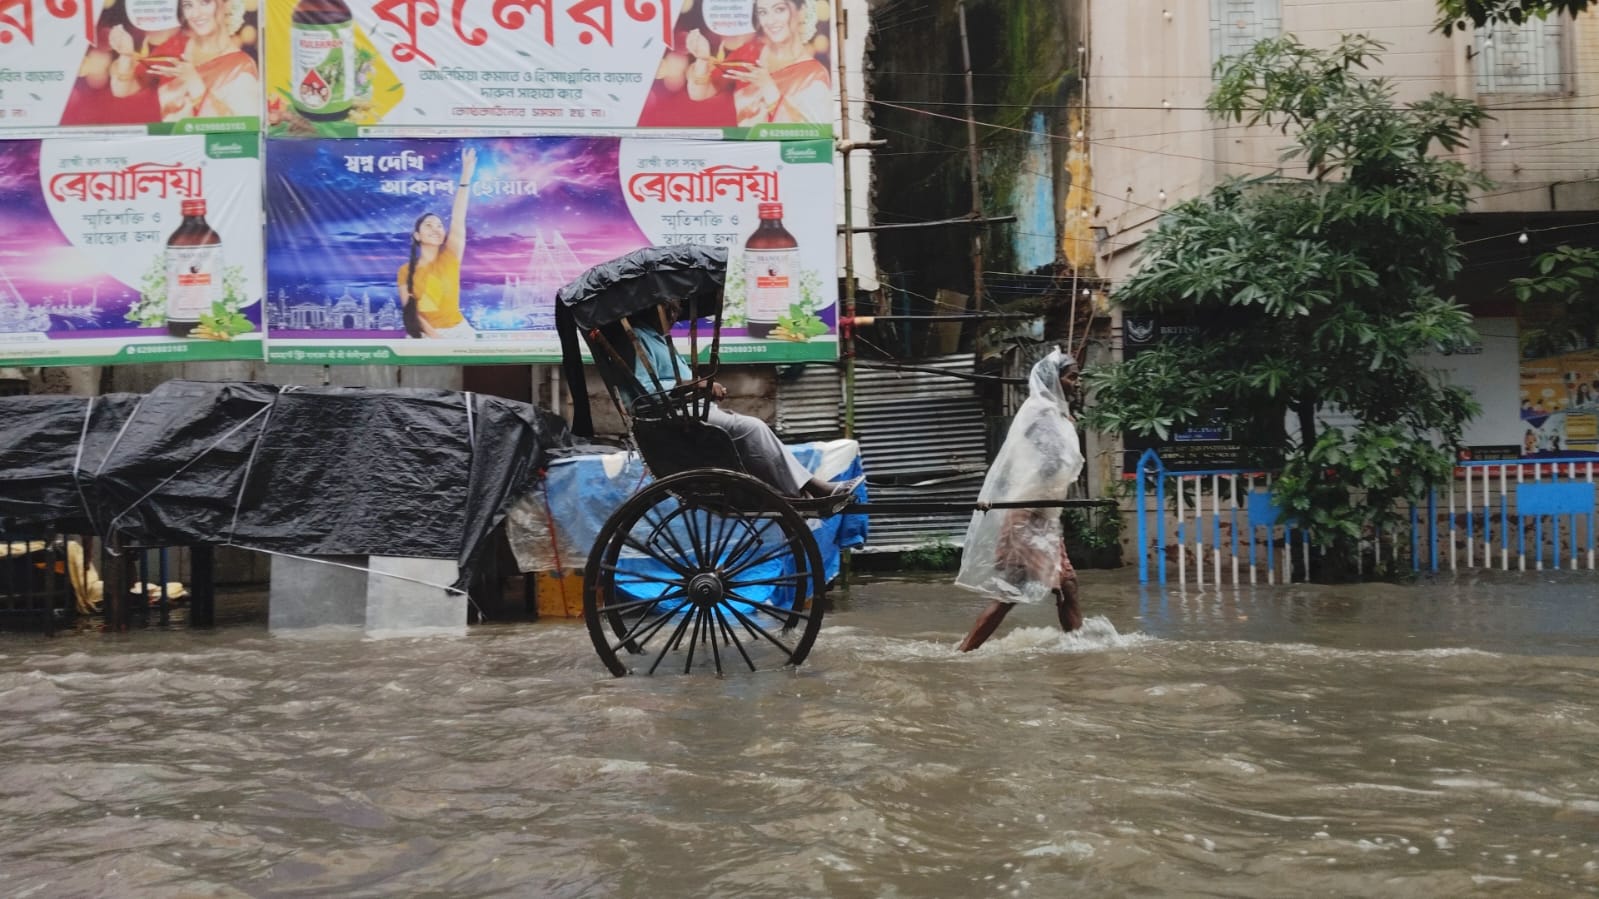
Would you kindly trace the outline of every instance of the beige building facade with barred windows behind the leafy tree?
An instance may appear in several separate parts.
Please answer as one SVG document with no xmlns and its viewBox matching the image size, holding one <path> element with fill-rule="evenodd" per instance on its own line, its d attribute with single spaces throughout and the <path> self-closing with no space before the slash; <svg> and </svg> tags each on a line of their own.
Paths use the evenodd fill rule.
<svg viewBox="0 0 1599 899">
<path fill-rule="evenodd" d="M 1469 358 L 1436 360 L 1484 406 L 1466 445 L 1532 454 L 1535 438 L 1537 453 L 1599 453 L 1599 403 L 1575 414 L 1564 397 L 1599 381 L 1599 347 L 1530 349 L 1541 314 L 1508 290 L 1509 278 L 1532 274 L 1538 253 L 1599 242 L 1599 16 L 1444 35 L 1434 30 L 1434 0 L 1083 2 L 1092 165 L 1084 205 L 1111 290 L 1175 203 L 1228 178 L 1298 174 L 1298 163 L 1279 158 L 1286 136 L 1206 112 L 1217 62 L 1268 37 L 1332 46 L 1364 34 L 1386 45 L 1372 74 L 1388 77 L 1399 101 L 1444 91 L 1476 99 L 1492 117 L 1457 154 L 1493 186 L 1457 221 L 1466 270 L 1445 288 L 1477 317 L 1482 344 Z"/>
</svg>

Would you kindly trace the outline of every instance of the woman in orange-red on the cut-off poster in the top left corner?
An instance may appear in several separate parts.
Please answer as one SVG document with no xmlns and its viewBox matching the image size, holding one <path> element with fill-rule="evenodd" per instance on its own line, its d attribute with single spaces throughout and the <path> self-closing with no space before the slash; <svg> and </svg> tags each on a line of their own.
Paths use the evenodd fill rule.
<svg viewBox="0 0 1599 899">
<path fill-rule="evenodd" d="M 245 26 L 245 0 L 179 0 L 182 50 L 177 56 L 139 56 L 128 29 L 110 30 L 117 61 L 110 66 L 112 96 L 147 90 L 139 74 L 157 77 L 161 122 L 222 115 L 261 115 L 261 72 L 238 48 L 235 34 Z"/>
</svg>

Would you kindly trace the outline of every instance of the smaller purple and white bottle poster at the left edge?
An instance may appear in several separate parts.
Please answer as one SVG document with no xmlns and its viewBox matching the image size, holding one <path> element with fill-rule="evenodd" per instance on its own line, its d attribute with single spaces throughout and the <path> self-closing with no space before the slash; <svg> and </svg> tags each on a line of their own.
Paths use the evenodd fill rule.
<svg viewBox="0 0 1599 899">
<path fill-rule="evenodd" d="M 0 365 L 262 358 L 259 147 L 0 141 Z"/>
</svg>

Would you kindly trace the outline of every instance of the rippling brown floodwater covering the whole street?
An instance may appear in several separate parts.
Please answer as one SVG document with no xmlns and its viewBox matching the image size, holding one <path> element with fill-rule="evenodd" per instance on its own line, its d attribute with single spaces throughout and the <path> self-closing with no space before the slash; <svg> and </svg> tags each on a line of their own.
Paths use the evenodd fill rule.
<svg viewBox="0 0 1599 899">
<path fill-rule="evenodd" d="M 464 638 L 0 637 L 0 893 L 1599 893 L 1591 577 L 1140 592 L 859 579 L 798 673 Z"/>
</svg>

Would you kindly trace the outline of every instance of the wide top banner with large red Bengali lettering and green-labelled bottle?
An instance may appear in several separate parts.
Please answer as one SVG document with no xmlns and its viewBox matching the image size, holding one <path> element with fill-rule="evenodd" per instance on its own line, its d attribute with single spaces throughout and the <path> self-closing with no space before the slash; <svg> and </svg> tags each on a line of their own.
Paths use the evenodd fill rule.
<svg viewBox="0 0 1599 899">
<path fill-rule="evenodd" d="M 267 0 L 265 14 L 273 138 L 827 139 L 838 114 L 833 0 Z"/>
</svg>

